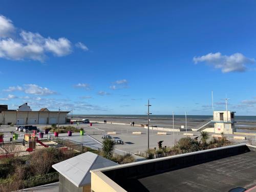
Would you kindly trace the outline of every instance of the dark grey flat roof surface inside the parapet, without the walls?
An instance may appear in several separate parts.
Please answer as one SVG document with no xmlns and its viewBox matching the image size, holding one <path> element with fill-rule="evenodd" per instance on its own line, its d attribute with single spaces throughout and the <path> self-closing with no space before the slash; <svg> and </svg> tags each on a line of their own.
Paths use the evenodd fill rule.
<svg viewBox="0 0 256 192">
<path fill-rule="evenodd" d="M 256 185 L 256 153 L 251 151 L 141 178 L 129 178 L 118 184 L 127 191 L 248 189 Z"/>
</svg>

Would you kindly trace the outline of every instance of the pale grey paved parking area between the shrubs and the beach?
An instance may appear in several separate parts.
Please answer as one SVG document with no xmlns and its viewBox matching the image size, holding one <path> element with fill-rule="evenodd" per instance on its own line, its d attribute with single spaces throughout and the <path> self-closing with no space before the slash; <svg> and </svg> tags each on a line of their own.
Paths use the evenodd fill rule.
<svg viewBox="0 0 256 192">
<path fill-rule="evenodd" d="M 62 126 L 69 126 L 70 124 L 65 125 L 59 125 L 60 129 Z M 110 134 L 113 139 L 121 139 L 123 141 L 123 144 L 117 144 L 116 149 L 124 152 L 131 152 L 131 153 L 137 153 L 137 152 L 144 152 L 147 150 L 147 129 L 141 126 L 130 126 L 127 124 L 111 124 L 111 123 L 93 123 L 92 126 L 88 123 L 80 123 L 79 125 L 73 124 L 72 126 L 75 126 L 77 128 L 83 128 L 85 131 L 85 134 L 93 137 L 99 142 L 102 142 L 102 136 L 108 135 L 108 132 L 116 132 L 116 134 Z M 46 125 L 37 125 L 37 127 L 44 131 L 44 128 Z M 50 127 L 50 125 L 48 125 Z M 10 141 L 11 137 L 11 131 L 15 130 L 15 126 L 1 126 L 0 127 L 1 132 L 4 132 L 5 134 L 5 142 Z M 23 139 L 24 132 L 14 131 L 15 133 L 19 134 L 18 139 Z M 133 134 L 133 132 L 141 132 L 141 134 Z M 173 146 L 174 141 L 178 141 L 180 138 L 185 137 L 183 134 L 186 133 L 183 132 L 166 132 L 167 135 L 157 135 L 157 132 L 163 132 L 163 131 L 156 131 L 156 130 L 150 130 L 150 148 L 158 147 L 157 142 L 163 141 L 162 146 Z M 193 133 L 194 136 L 190 136 L 192 138 L 200 136 L 199 132 L 192 132 L 189 131 L 187 133 Z M 211 133 L 210 133 L 211 135 Z M 73 133 L 71 137 L 68 137 L 71 140 L 78 141 L 78 142 L 86 142 L 87 140 L 90 140 L 90 144 L 92 146 L 99 147 L 99 143 L 97 141 L 93 141 L 91 138 L 87 136 L 79 136 L 79 133 Z M 44 138 L 47 138 L 48 135 L 44 135 Z M 66 133 L 59 134 L 59 137 L 67 137 Z M 233 135 L 229 134 L 229 138 L 231 138 Z M 251 138 L 251 140 L 254 141 L 254 137 L 248 137 Z M 246 142 L 246 140 L 233 140 L 235 142 Z M 86 144 L 86 143 L 85 143 Z"/>
</svg>

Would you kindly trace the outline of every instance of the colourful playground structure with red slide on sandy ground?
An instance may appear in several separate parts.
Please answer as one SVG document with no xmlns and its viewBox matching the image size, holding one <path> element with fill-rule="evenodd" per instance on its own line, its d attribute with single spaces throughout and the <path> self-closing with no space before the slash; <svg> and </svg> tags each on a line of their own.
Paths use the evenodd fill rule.
<svg viewBox="0 0 256 192">
<path fill-rule="evenodd" d="M 39 133 L 40 138 L 42 138 L 43 133 Z M 27 144 L 27 152 L 32 152 L 36 148 L 36 142 L 44 147 L 49 147 L 48 145 L 42 143 L 38 140 L 38 137 L 36 136 L 36 130 L 27 131 L 26 134 L 24 134 L 24 145 Z"/>
</svg>

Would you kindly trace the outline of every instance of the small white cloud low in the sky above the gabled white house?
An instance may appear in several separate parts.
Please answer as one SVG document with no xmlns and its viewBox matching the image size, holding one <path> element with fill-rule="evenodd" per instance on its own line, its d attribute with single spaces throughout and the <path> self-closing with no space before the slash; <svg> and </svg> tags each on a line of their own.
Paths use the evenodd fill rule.
<svg viewBox="0 0 256 192">
<path fill-rule="evenodd" d="M 25 84 L 24 92 L 27 94 L 33 95 L 52 95 L 56 94 L 56 92 L 49 90 L 48 88 L 42 88 L 37 86 L 37 84 Z"/>
</svg>

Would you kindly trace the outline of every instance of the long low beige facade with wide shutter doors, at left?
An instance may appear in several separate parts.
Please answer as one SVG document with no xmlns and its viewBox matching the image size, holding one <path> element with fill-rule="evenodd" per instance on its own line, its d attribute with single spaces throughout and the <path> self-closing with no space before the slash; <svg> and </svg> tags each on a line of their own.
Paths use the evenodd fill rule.
<svg viewBox="0 0 256 192">
<path fill-rule="evenodd" d="M 16 125 L 24 124 L 53 124 L 58 122 L 58 112 L 20 112 L 20 111 L 2 111 L 0 113 L 0 123 L 7 125 L 13 123 Z M 59 123 L 67 122 L 67 112 L 59 113 Z"/>
</svg>

